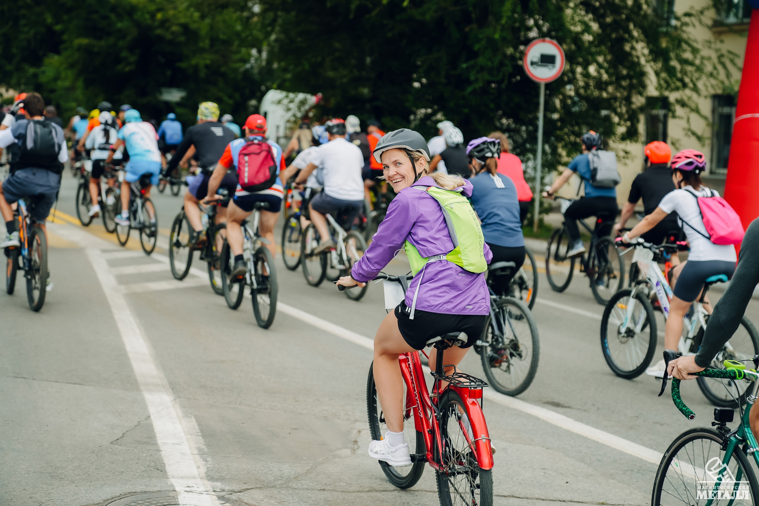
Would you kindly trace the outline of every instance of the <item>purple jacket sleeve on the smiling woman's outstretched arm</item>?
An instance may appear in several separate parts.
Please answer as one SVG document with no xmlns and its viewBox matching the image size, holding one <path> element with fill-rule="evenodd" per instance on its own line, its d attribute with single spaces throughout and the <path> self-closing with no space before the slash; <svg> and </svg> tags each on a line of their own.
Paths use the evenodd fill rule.
<svg viewBox="0 0 759 506">
<path fill-rule="evenodd" d="M 414 227 L 419 209 L 418 200 L 410 198 L 409 192 L 413 191 L 402 190 L 388 206 L 387 215 L 379 224 L 372 244 L 351 269 L 351 277 L 356 281 L 366 283 L 376 278 L 379 271 L 385 269 L 395 256 L 395 252 L 402 249 L 406 237 Z"/>
</svg>

